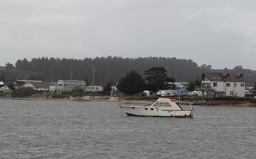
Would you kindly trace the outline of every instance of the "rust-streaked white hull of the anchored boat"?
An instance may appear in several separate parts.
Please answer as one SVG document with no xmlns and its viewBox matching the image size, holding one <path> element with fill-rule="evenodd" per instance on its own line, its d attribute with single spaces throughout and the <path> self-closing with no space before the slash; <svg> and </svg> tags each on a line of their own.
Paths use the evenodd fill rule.
<svg viewBox="0 0 256 159">
<path fill-rule="evenodd" d="M 153 117 L 193 117 L 194 110 L 162 110 L 157 107 L 120 106 L 127 115 Z"/>
</svg>

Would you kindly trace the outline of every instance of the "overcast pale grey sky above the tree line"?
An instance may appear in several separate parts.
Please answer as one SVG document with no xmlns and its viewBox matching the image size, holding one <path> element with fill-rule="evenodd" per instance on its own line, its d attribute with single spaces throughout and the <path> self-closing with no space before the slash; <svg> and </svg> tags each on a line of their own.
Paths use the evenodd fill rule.
<svg viewBox="0 0 256 159">
<path fill-rule="evenodd" d="M 0 66 L 161 56 L 256 70 L 256 0 L 0 0 L 0 22 Z"/>
</svg>

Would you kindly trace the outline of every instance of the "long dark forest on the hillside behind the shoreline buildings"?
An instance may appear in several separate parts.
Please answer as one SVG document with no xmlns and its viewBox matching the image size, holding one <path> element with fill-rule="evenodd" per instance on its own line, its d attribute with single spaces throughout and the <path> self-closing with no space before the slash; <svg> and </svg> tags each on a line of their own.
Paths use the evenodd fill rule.
<svg viewBox="0 0 256 159">
<path fill-rule="evenodd" d="M 92 83 L 92 67 L 95 66 L 94 85 L 105 85 L 107 81 L 118 82 L 118 79 L 126 75 L 130 70 L 137 71 L 143 78 L 145 70 L 152 67 L 164 67 L 167 76 L 175 78 L 176 82 L 194 81 L 202 76 L 202 72 L 232 72 L 242 73 L 246 83 L 250 72 L 250 81 L 256 81 L 255 71 L 243 69 L 242 66 L 236 66 L 232 70 L 213 70 L 210 65 L 198 66 L 192 60 L 164 58 L 164 57 L 147 57 L 147 58 L 122 58 L 122 57 L 96 57 L 79 59 L 60 59 L 60 58 L 32 58 L 28 61 L 26 58 L 17 60 L 16 63 L 5 66 L 5 70 L 0 70 L 0 77 L 6 80 L 19 78 L 20 80 L 44 80 L 58 81 L 67 80 L 71 77 L 76 80 L 87 80 Z M 4 75 L 4 76 L 3 76 Z M 252 85 L 252 84 L 251 84 Z"/>
</svg>

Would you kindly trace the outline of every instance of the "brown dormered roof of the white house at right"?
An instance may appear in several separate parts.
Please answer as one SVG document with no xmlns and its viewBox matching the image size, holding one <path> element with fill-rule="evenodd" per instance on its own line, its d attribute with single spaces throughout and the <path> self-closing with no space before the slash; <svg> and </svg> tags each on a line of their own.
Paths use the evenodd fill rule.
<svg viewBox="0 0 256 159">
<path fill-rule="evenodd" d="M 210 81 L 223 81 L 223 82 L 245 82 L 244 78 L 239 79 L 239 77 L 243 77 L 242 74 L 236 73 L 228 73 L 228 72 L 220 72 L 220 73 L 207 73 L 203 72 L 203 77 L 206 76 Z M 228 79 L 226 77 L 229 77 Z M 201 81 L 202 81 L 201 79 Z"/>
</svg>

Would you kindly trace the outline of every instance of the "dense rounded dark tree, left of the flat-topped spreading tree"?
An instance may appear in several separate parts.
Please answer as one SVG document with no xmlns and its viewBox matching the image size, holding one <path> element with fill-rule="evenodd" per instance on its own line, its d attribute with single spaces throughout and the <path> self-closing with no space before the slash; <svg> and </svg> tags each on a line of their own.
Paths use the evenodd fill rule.
<svg viewBox="0 0 256 159">
<path fill-rule="evenodd" d="M 126 95 L 134 95 L 135 93 L 144 91 L 145 80 L 137 71 L 131 70 L 126 73 L 125 77 L 118 79 L 116 88 Z"/>
</svg>

